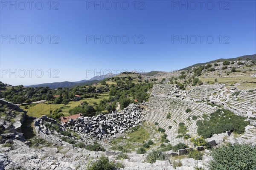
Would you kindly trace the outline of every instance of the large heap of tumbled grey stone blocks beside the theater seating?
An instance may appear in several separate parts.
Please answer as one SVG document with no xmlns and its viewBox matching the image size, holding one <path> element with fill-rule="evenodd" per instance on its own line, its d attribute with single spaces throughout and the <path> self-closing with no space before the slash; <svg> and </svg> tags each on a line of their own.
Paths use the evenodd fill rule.
<svg viewBox="0 0 256 170">
<path fill-rule="evenodd" d="M 135 127 L 143 121 L 141 105 L 147 105 L 147 103 L 130 104 L 124 110 L 116 113 L 112 112 L 112 114 L 70 119 L 62 126 L 77 133 L 86 133 L 87 136 L 97 139 L 116 137 L 116 133 L 123 133 L 128 127 Z"/>
</svg>

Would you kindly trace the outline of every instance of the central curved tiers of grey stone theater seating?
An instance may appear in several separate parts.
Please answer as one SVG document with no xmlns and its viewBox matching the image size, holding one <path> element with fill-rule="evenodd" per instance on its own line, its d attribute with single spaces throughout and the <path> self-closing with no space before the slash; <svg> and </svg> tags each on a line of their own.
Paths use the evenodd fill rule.
<svg viewBox="0 0 256 170">
<path fill-rule="evenodd" d="M 162 87 L 162 88 L 161 88 Z M 168 139 L 171 144 L 184 142 L 183 138 L 176 139 L 178 135 L 177 129 L 180 122 L 185 123 L 188 134 L 194 136 L 197 133 L 196 121 L 203 119 L 202 115 L 210 114 L 216 110 L 216 107 L 207 105 L 206 102 L 193 102 L 190 99 L 183 97 L 168 96 L 169 90 L 173 90 L 173 85 L 154 85 L 151 97 L 148 102 L 148 112 L 145 115 L 145 120 L 152 123 L 159 123 L 159 127 L 166 130 Z M 186 109 L 191 109 L 186 113 Z M 167 119 L 167 114 L 170 113 L 170 119 Z M 190 120 L 187 120 L 190 116 Z M 198 116 L 197 120 L 192 120 L 192 116 Z M 172 126 L 169 129 L 169 126 Z"/>
</svg>

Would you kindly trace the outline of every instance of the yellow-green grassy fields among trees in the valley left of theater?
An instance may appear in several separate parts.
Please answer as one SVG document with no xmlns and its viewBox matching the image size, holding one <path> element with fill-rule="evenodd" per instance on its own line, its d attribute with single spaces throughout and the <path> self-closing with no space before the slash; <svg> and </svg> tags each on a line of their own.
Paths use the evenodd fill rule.
<svg viewBox="0 0 256 170">
<path fill-rule="evenodd" d="M 23 108 L 24 110 L 28 111 L 27 115 L 29 116 L 34 116 L 34 117 L 41 117 L 42 115 L 48 115 L 50 113 L 50 111 L 54 111 L 57 108 L 60 107 L 64 107 L 62 108 L 62 113 L 67 116 L 69 115 L 69 110 L 75 108 L 76 106 L 80 105 L 80 102 L 88 102 L 89 105 L 94 105 L 94 102 L 96 102 L 97 104 L 99 104 L 99 102 L 102 99 L 108 99 L 109 94 L 105 93 L 105 94 L 100 94 L 98 96 L 98 99 L 95 98 L 87 98 L 87 99 L 81 99 L 80 101 L 71 101 L 69 102 L 67 105 L 63 105 L 63 104 L 48 104 L 48 102 L 45 103 L 38 103 L 38 104 L 33 104 L 32 107 L 25 109 L 25 106 L 20 106 L 20 108 Z"/>
</svg>

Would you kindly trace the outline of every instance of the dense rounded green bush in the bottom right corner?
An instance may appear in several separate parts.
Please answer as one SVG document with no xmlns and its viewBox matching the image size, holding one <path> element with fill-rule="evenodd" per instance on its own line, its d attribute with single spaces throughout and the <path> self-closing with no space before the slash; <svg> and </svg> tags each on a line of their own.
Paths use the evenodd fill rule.
<svg viewBox="0 0 256 170">
<path fill-rule="evenodd" d="M 255 170 L 256 147 L 251 144 L 227 144 L 212 150 L 209 170 Z"/>
</svg>

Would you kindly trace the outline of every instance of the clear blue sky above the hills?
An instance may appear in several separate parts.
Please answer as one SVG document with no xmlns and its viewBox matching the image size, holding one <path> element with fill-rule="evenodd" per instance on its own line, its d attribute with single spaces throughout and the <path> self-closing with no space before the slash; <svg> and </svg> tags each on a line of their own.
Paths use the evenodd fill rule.
<svg viewBox="0 0 256 170">
<path fill-rule="evenodd" d="M 100 3 L 102 6 L 97 6 Z M 255 0 L 135 3 L 120 0 L 115 6 L 112 0 L 97 4 L 94 0 L 42 0 L 24 6 L 20 1 L 1 0 L 0 81 L 11 85 L 79 81 L 95 75 L 88 75 L 87 69 L 110 69 L 112 73 L 114 69 L 119 69 L 117 73 L 122 69 L 172 71 L 198 62 L 256 53 Z M 95 35 L 99 39 L 102 35 L 102 44 L 100 40 L 94 42 Z M 40 44 L 41 37 L 44 41 Z M 9 75 L 15 69 L 17 78 L 16 73 Z M 28 69 L 34 69 L 30 77 Z M 37 69 L 41 70 L 36 77 Z M 58 78 L 54 69 L 59 71 Z"/>
</svg>

